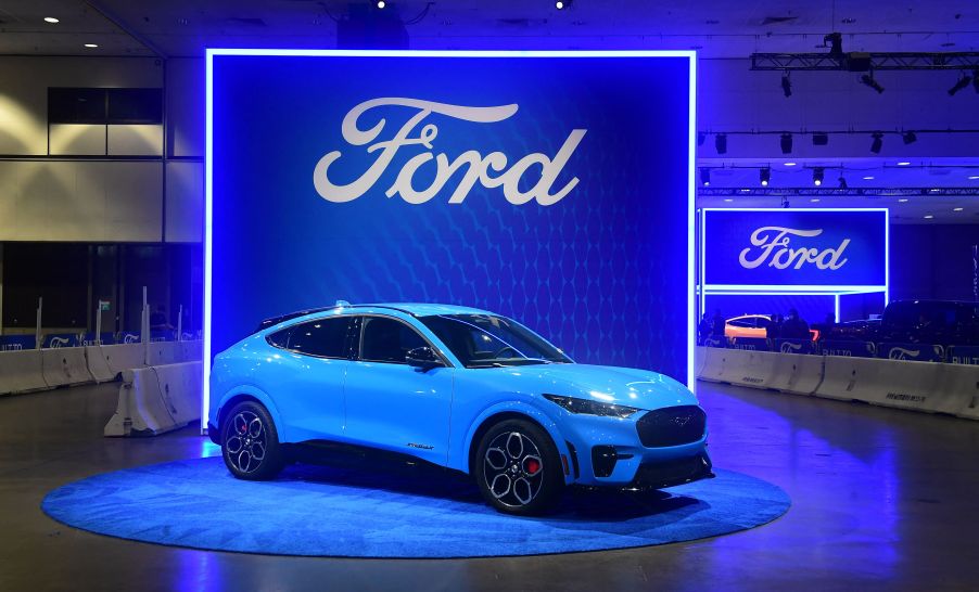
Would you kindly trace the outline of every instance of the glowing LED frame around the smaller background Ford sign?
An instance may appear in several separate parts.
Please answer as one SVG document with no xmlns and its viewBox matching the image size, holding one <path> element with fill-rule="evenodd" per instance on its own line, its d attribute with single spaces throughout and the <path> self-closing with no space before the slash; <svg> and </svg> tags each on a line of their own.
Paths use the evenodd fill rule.
<svg viewBox="0 0 979 592">
<path fill-rule="evenodd" d="M 785 208 L 701 208 L 700 209 L 700 275 L 698 292 L 700 294 L 700 310 L 704 309 L 708 294 L 713 295 L 797 295 L 797 296 L 835 296 L 836 320 L 840 320 L 840 296 L 851 294 L 883 293 L 883 305 L 890 301 L 890 210 L 888 208 L 791 208 L 790 211 L 877 211 L 882 213 L 883 219 L 883 285 L 791 285 L 791 284 L 703 284 L 707 276 L 707 214 L 708 211 L 780 211 Z"/>
</svg>

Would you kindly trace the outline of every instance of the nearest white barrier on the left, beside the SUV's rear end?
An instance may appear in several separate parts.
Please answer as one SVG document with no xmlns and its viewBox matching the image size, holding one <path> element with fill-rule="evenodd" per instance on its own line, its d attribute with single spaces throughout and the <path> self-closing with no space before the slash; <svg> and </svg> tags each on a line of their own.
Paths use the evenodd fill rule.
<svg viewBox="0 0 979 592">
<path fill-rule="evenodd" d="M 201 417 L 201 362 L 123 372 L 115 414 L 105 436 L 156 436 Z"/>
</svg>

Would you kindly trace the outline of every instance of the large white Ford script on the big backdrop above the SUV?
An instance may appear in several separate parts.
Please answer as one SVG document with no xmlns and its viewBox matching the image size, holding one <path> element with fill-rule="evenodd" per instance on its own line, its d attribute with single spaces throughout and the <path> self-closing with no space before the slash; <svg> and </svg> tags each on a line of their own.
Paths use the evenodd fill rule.
<svg viewBox="0 0 979 592">
<path fill-rule="evenodd" d="M 367 130 L 361 130 L 357 126 L 357 121 L 366 112 L 381 106 L 408 107 L 416 110 L 417 113 L 400 129 L 395 131 L 390 140 L 378 140 L 386 127 L 385 119 L 380 119 L 372 128 Z M 461 204 L 475 183 L 479 182 L 486 189 L 501 186 L 507 201 L 514 205 L 526 204 L 533 200 L 536 200 L 542 206 L 554 205 L 563 200 L 578 182 L 577 177 L 574 177 L 557 191 L 554 188 L 558 176 L 568 164 L 569 158 L 571 158 L 587 130 L 572 130 L 554 157 L 534 152 L 523 156 L 512 165 L 509 165 L 509 157 L 503 152 L 491 152 L 483 156 L 479 151 L 468 150 L 452 162 L 449 162 L 449 157 L 444 152 L 433 154 L 435 151 L 434 141 L 438 136 L 438 127 L 432 123 L 425 124 L 418 130 L 417 134 L 414 134 L 418 126 L 433 113 L 475 124 L 495 124 L 511 117 L 517 113 L 517 108 L 518 105 L 516 104 L 469 107 L 399 98 L 365 101 L 346 114 L 341 125 L 341 132 L 343 139 L 351 146 L 367 146 L 367 153 L 377 153 L 377 158 L 359 178 L 347 184 L 338 184 L 330 178 L 330 172 L 334 171 L 331 166 L 341 160 L 343 153 L 339 150 L 329 152 L 316 164 L 313 171 L 313 184 L 316 188 L 316 192 L 328 202 L 352 202 L 373 188 L 384 171 L 387 170 L 387 167 L 391 166 L 400 149 L 421 145 L 428 151 L 411 156 L 402 165 L 394 183 L 385 191 L 387 197 L 399 195 L 402 200 L 409 204 L 423 204 L 438 194 L 457 171 L 465 169 L 465 175 L 462 175 L 448 200 L 449 204 Z M 428 188 L 416 189 L 412 184 L 416 171 L 432 159 L 435 160 L 434 180 Z M 343 165 L 341 163 L 338 166 L 342 167 Z M 539 178 L 531 178 L 537 171 L 539 171 Z M 526 181 L 521 183 L 524 177 L 527 177 L 527 181 L 533 183 L 533 185 L 526 191 L 521 191 L 520 188 L 527 184 Z M 334 176 L 333 179 L 336 179 L 336 177 Z M 536 180 L 536 183 L 533 182 L 534 180 Z"/>
</svg>

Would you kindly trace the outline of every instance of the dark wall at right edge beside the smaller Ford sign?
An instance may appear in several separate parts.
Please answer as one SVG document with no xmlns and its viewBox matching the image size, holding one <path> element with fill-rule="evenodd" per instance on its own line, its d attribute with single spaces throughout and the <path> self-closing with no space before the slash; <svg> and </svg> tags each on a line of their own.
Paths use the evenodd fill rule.
<svg viewBox="0 0 979 592">
<path fill-rule="evenodd" d="M 891 300 L 972 300 L 979 224 L 891 227 Z"/>
</svg>

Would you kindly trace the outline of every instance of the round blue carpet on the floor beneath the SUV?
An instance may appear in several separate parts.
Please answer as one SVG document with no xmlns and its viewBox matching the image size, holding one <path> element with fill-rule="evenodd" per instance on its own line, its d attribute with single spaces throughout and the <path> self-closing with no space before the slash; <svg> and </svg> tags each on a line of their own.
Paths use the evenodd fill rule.
<svg viewBox="0 0 979 592">
<path fill-rule="evenodd" d="M 342 557 L 485 557 L 623 549 L 743 530 L 790 505 L 729 471 L 645 493 L 569 489 L 557 513 L 498 514 L 461 475 L 428 465 L 292 465 L 275 481 L 231 477 L 220 458 L 89 477 L 44 498 L 69 526 L 216 551 Z"/>
</svg>

